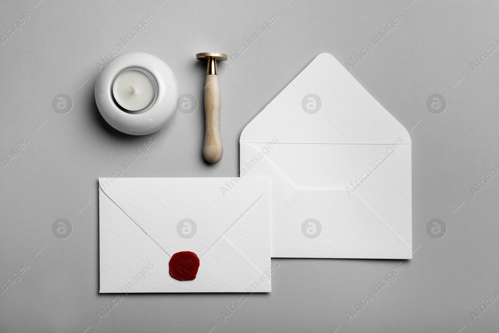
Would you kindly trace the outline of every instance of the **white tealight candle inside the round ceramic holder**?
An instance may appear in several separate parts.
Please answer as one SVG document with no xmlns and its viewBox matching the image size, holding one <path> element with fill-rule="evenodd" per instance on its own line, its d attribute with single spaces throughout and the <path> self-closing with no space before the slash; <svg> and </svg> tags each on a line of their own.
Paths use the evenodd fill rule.
<svg viewBox="0 0 499 333">
<path fill-rule="evenodd" d="M 127 70 L 114 80 L 113 95 L 116 102 L 124 109 L 138 111 L 152 101 L 154 85 L 146 73 L 140 70 Z"/>
</svg>

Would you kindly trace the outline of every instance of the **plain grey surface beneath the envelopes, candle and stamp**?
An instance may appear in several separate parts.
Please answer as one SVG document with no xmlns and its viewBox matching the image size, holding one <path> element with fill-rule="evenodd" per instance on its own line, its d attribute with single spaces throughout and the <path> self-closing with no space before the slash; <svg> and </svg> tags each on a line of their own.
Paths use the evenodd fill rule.
<svg viewBox="0 0 499 333">
<path fill-rule="evenodd" d="M 0 46 L 0 156 L 29 139 L 0 171 L 0 281 L 30 265 L 0 296 L 1 332 L 466 333 L 499 327 L 499 302 L 475 322 L 470 315 L 492 293 L 499 296 L 499 180 L 475 196 L 470 190 L 492 168 L 499 171 L 499 51 L 475 71 L 470 65 L 492 43 L 499 46 L 499 2 L 38 1 L 0 4 L 2 33 L 22 13 L 30 15 Z M 216 165 L 202 158 L 202 107 L 178 112 L 165 130 L 145 137 L 115 131 L 97 111 L 95 62 L 148 12 L 155 17 L 147 30 L 120 53 L 162 58 L 180 93 L 201 101 L 205 65 L 195 54 L 235 51 L 279 14 L 270 31 L 219 72 L 225 152 Z M 128 295 L 99 322 L 96 311 L 116 296 L 98 294 L 97 177 L 112 175 L 149 137 L 154 145 L 125 177 L 238 175 L 243 128 L 289 80 L 321 52 L 344 63 L 399 12 L 404 18 L 396 30 L 351 70 L 411 130 L 416 252 L 396 280 L 348 321 L 350 306 L 400 261 L 272 259 L 279 264 L 272 293 L 253 294 L 225 322 L 221 312 L 240 294 Z M 67 114 L 51 107 L 59 93 L 73 101 Z M 426 108 L 434 93 L 448 102 L 438 115 Z M 59 218 L 72 224 L 69 238 L 52 234 Z M 441 239 L 426 232 L 434 218 L 447 224 Z"/>
</svg>

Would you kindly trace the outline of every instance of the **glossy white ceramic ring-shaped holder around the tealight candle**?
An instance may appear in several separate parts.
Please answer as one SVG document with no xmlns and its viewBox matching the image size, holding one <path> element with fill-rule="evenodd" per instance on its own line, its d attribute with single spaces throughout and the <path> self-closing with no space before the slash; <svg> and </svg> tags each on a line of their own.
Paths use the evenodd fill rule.
<svg viewBox="0 0 499 333">
<path fill-rule="evenodd" d="M 144 72 L 154 86 L 151 102 L 137 111 L 121 107 L 113 95 L 114 80 L 127 70 Z M 168 124 L 177 111 L 179 88 L 171 68 L 160 58 L 144 52 L 115 57 L 95 82 L 95 102 L 102 117 L 118 131 L 132 135 L 154 133 Z"/>
</svg>

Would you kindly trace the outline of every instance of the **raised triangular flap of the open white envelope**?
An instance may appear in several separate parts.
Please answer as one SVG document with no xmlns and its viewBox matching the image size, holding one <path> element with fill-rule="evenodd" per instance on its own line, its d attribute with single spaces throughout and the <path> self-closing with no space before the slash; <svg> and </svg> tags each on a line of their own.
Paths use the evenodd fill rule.
<svg viewBox="0 0 499 333">
<path fill-rule="evenodd" d="M 307 103 L 315 107 L 310 112 L 318 111 L 305 112 Z M 397 138 L 411 143 L 404 126 L 329 53 L 319 54 L 298 74 L 246 126 L 240 142 L 272 138 L 279 143 L 391 144 Z"/>
</svg>

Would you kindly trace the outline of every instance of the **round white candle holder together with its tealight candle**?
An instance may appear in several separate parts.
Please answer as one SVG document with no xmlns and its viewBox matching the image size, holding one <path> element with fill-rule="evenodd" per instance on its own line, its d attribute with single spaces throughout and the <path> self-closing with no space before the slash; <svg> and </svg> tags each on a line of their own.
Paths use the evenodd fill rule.
<svg viewBox="0 0 499 333">
<path fill-rule="evenodd" d="M 102 117 L 131 135 L 159 131 L 178 113 L 177 78 L 163 60 L 149 53 L 115 57 L 100 72 L 94 94 Z"/>
</svg>

